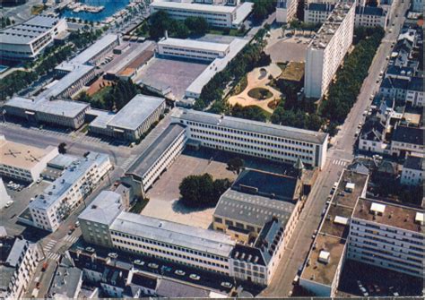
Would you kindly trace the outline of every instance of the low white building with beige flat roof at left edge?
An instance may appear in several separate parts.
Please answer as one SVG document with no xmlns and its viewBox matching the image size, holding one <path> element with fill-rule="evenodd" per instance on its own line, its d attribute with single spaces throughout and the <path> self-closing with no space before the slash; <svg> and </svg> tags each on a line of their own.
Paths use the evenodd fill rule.
<svg viewBox="0 0 425 300">
<path fill-rule="evenodd" d="M 58 154 L 57 147 L 46 149 L 7 141 L 0 135 L 0 176 L 31 183 L 39 179 L 48 161 Z"/>
</svg>

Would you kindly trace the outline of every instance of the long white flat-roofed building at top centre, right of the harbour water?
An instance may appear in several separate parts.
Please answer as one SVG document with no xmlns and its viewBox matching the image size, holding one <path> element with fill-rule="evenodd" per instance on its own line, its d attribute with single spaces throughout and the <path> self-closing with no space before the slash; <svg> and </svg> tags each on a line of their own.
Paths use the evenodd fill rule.
<svg viewBox="0 0 425 300">
<path fill-rule="evenodd" d="M 212 27 L 238 28 L 252 10 L 252 3 L 234 5 L 211 5 L 187 2 L 153 1 L 151 14 L 159 11 L 169 13 L 176 20 L 187 17 L 203 17 Z"/>
</svg>

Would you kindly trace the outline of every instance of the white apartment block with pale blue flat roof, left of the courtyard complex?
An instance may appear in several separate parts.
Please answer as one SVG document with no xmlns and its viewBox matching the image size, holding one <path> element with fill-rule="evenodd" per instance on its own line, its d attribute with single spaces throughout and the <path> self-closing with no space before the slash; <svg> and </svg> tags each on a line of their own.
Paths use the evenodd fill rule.
<svg viewBox="0 0 425 300">
<path fill-rule="evenodd" d="M 30 202 L 32 226 L 51 232 L 75 210 L 112 167 L 108 155 L 91 152 L 77 159 Z"/>
</svg>

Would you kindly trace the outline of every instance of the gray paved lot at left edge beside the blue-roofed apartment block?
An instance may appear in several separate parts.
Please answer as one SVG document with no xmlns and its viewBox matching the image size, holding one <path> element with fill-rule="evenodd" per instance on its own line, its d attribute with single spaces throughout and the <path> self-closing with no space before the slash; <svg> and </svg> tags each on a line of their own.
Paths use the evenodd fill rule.
<svg viewBox="0 0 425 300">
<path fill-rule="evenodd" d="M 14 183 L 17 183 L 16 180 L 4 178 L 4 185 L 6 186 L 7 193 L 12 198 L 13 204 L 8 208 L 0 210 L 0 226 L 4 226 L 7 233 L 10 235 L 19 235 L 25 227 L 20 224 L 16 224 L 18 216 L 28 206 L 30 199 L 36 194 L 42 193 L 49 183 L 46 181 L 42 181 L 39 184 L 34 182 L 29 186 L 23 187 L 22 191 L 17 191 L 7 187 L 7 184 L 9 184 L 11 180 Z"/>
</svg>

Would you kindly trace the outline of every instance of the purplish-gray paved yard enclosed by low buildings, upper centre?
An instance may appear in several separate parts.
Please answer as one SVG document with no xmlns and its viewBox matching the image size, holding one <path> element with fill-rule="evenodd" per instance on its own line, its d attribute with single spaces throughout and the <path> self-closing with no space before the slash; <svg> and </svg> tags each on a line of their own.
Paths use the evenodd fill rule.
<svg viewBox="0 0 425 300">
<path fill-rule="evenodd" d="M 208 64 L 153 57 L 134 79 L 157 90 L 169 88 L 175 99 L 182 99 L 187 87 L 203 73 Z"/>
</svg>

